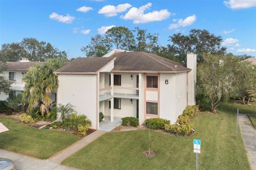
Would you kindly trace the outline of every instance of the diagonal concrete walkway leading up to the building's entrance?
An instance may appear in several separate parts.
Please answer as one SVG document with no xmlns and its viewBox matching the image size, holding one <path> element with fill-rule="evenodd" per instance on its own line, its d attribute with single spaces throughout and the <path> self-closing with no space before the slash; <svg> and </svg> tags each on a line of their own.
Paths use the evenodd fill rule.
<svg viewBox="0 0 256 170">
<path fill-rule="evenodd" d="M 97 131 L 91 133 L 90 135 L 83 137 L 83 139 L 69 145 L 67 148 L 59 151 L 58 153 L 55 153 L 55 155 L 51 156 L 47 160 L 49 160 L 53 163 L 61 164 L 64 159 L 70 157 L 75 152 L 81 150 L 87 144 L 91 143 L 92 141 L 94 141 L 95 139 L 97 139 L 98 137 L 100 137 L 101 135 L 103 135 L 105 133 L 107 133 L 107 132 L 97 130 Z"/>
</svg>

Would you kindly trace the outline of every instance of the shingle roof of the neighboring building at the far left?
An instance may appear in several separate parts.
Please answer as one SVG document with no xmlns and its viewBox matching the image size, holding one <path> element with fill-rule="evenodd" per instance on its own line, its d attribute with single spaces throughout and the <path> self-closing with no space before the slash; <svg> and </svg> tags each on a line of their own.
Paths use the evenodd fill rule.
<svg viewBox="0 0 256 170">
<path fill-rule="evenodd" d="M 35 66 L 36 63 L 43 62 L 6 62 L 5 70 L 28 71 L 29 67 Z"/>
</svg>

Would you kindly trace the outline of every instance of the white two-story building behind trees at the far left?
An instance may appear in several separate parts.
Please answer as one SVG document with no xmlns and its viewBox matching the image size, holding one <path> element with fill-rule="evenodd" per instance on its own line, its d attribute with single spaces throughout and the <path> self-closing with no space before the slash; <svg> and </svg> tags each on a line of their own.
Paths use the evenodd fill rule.
<svg viewBox="0 0 256 170">
<path fill-rule="evenodd" d="M 25 88 L 25 82 L 22 81 L 23 76 L 28 71 L 29 67 L 32 67 L 37 62 L 29 62 L 27 59 L 22 59 L 20 62 L 6 62 L 6 69 L 3 71 L 3 75 L 13 80 L 11 85 L 12 92 L 6 94 L 0 92 L 0 100 L 6 100 L 8 97 L 22 93 Z"/>
</svg>

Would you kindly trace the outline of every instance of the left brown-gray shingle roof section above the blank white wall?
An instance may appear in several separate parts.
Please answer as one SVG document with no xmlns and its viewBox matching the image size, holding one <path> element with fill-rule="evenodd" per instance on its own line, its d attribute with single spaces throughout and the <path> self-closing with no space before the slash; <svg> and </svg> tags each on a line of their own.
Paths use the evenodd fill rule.
<svg viewBox="0 0 256 170">
<path fill-rule="evenodd" d="M 95 57 L 95 58 L 77 58 L 68 62 L 65 66 L 54 71 L 57 74 L 74 74 L 74 73 L 95 73 L 102 67 L 106 66 L 114 58 Z"/>
</svg>

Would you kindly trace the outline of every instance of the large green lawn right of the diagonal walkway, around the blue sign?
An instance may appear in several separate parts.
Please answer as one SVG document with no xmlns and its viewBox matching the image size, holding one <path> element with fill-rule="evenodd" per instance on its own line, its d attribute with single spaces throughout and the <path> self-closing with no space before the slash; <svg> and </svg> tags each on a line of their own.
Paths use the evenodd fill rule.
<svg viewBox="0 0 256 170">
<path fill-rule="evenodd" d="M 200 169 L 250 169 L 241 133 L 236 139 L 236 109 L 253 112 L 236 102 L 222 103 L 218 114 L 199 112 L 191 120 L 196 132 L 189 137 L 154 132 L 154 158 L 145 158 L 148 131 L 107 133 L 62 164 L 81 169 L 195 169 L 193 139 L 201 139 Z"/>
</svg>

